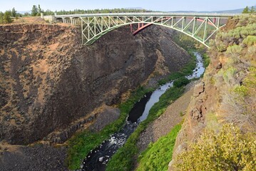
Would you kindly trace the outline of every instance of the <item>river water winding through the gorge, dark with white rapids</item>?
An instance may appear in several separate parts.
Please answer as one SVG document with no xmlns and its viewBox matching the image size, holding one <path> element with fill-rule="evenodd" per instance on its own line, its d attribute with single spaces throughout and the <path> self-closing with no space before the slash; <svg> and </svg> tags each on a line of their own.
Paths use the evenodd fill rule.
<svg viewBox="0 0 256 171">
<path fill-rule="evenodd" d="M 186 76 L 188 79 L 199 78 L 205 71 L 203 59 L 199 53 L 194 52 L 197 58 L 196 68 L 193 74 Z M 146 93 L 140 101 L 135 103 L 130 110 L 126 125 L 118 133 L 114 133 L 108 140 L 105 140 L 91 150 L 81 164 L 82 171 L 103 171 L 106 170 L 108 160 L 116 153 L 118 148 L 122 147 L 131 133 L 137 128 L 138 124 L 148 117 L 150 108 L 159 101 L 159 98 L 168 88 L 173 86 L 173 81 L 160 86 L 153 93 Z"/>
</svg>

